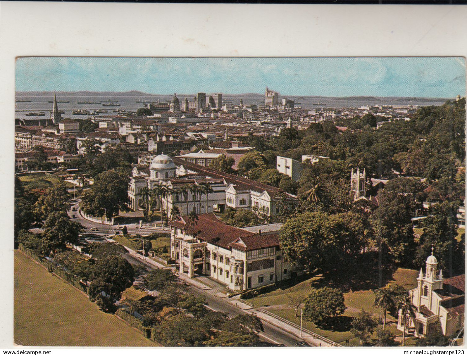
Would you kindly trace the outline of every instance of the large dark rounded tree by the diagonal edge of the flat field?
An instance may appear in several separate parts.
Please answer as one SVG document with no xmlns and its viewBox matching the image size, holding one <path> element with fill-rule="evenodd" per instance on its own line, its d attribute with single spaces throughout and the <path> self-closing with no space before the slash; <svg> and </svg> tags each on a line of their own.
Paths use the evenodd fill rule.
<svg viewBox="0 0 467 355">
<path fill-rule="evenodd" d="M 90 299 L 104 310 L 111 311 L 121 293 L 133 284 L 134 270 L 121 256 L 111 255 L 96 261 L 89 279 Z"/>
</svg>

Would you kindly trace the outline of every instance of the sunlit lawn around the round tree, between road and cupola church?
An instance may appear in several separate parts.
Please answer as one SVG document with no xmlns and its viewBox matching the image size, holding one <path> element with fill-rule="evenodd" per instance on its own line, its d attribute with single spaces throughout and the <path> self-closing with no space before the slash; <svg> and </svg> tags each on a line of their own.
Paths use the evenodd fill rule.
<svg viewBox="0 0 467 355">
<path fill-rule="evenodd" d="M 399 284 L 406 289 L 412 289 L 417 285 L 417 270 L 410 269 L 397 269 L 396 272 L 392 275 L 392 282 Z M 294 317 L 295 311 L 292 309 L 290 297 L 295 298 L 299 296 L 300 298 L 306 298 L 310 292 L 311 284 L 316 282 L 319 277 L 313 277 L 309 280 L 305 280 L 299 284 L 296 284 L 292 287 L 285 289 L 278 289 L 269 293 L 259 295 L 258 297 L 248 299 L 248 302 L 253 303 L 255 306 L 268 307 L 269 312 L 277 314 L 280 317 L 283 317 L 291 322 L 300 324 L 300 318 Z M 339 317 L 339 322 L 336 326 L 329 329 L 318 328 L 311 321 L 303 321 L 303 327 L 325 336 L 326 338 L 341 343 L 345 345 L 345 341 L 349 340 L 350 346 L 359 346 L 360 341 L 354 338 L 354 335 L 350 333 L 350 322 L 352 318 L 355 317 L 361 309 L 364 309 L 367 312 L 372 312 L 375 316 L 379 316 L 379 310 L 373 306 L 375 296 L 373 291 L 355 291 L 355 292 L 345 292 L 344 300 L 347 306 L 346 312 Z M 388 315 L 387 320 L 389 322 L 396 321 L 390 315 Z M 388 324 L 389 329 L 393 334 L 400 334 L 396 329 L 395 324 Z M 373 335 L 375 337 L 375 334 Z"/>
</svg>

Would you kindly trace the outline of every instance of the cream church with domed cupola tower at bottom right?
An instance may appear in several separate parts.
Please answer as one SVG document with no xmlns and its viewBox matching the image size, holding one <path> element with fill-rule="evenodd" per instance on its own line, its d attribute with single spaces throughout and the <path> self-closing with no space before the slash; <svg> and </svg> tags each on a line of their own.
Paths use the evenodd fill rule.
<svg viewBox="0 0 467 355">
<path fill-rule="evenodd" d="M 443 278 L 432 249 L 432 255 L 426 259 L 425 273 L 420 269 L 417 288 L 409 291 L 410 301 L 417 309 L 415 318 L 409 320 L 409 331 L 423 338 L 439 321 L 443 334 L 456 338 L 464 327 L 464 285 L 465 275 Z M 404 329 L 401 311 L 397 329 Z"/>
</svg>

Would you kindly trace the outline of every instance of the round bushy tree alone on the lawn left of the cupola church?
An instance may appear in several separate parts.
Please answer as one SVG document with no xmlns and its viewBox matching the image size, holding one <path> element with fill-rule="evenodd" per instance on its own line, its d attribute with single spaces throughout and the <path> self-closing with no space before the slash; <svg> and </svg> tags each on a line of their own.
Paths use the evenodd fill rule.
<svg viewBox="0 0 467 355">
<path fill-rule="evenodd" d="M 304 315 L 318 327 L 328 324 L 334 317 L 344 313 L 344 294 L 339 289 L 312 288 L 305 299 Z"/>
</svg>

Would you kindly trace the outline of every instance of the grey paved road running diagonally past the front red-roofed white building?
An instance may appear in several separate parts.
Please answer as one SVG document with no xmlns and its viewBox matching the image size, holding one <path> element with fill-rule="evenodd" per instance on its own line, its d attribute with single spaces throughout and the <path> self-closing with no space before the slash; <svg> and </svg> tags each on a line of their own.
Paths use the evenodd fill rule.
<svg viewBox="0 0 467 355">
<path fill-rule="evenodd" d="M 156 269 L 156 266 L 150 264 L 150 263 L 145 263 L 143 260 L 134 257 L 129 254 L 124 254 L 123 257 L 127 259 L 130 263 L 136 264 L 136 265 L 142 265 L 146 266 L 148 269 L 154 270 Z M 214 297 L 212 294 L 200 290 L 194 286 L 189 285 L 191 293 L 197 295 L 197 296 L 203 296 L 206 299 L 206 303 L 209 308 L 211 308 L 214 311 L 217 312 L 225 312 L 227 313 L 230 317 L 235 317 L 241 314 L 248 314 L 248 312 L 245 312 L 241 310 L 240 308 L 237 308 L 229 303 L 227 303 L 223 298 L 217 298 Z M 264 327 L 264 332 L 260 333 L 260 336 L 262 337 L 263 340 L 268 341 L 270 343 L 275 343 L 275 344 L 283 344 L 285 346 L 290 346 L 290 347 L 295 347 L 297 346 L 297 342 L 303 341 L 302 339 L 287 333 L 283 331 L 282 329 L 274 326 L 273 324 L 270 324 L 268 322 L 265 322 L 264 320 L 262 321 L 263 327 Z"/>
</svg>

